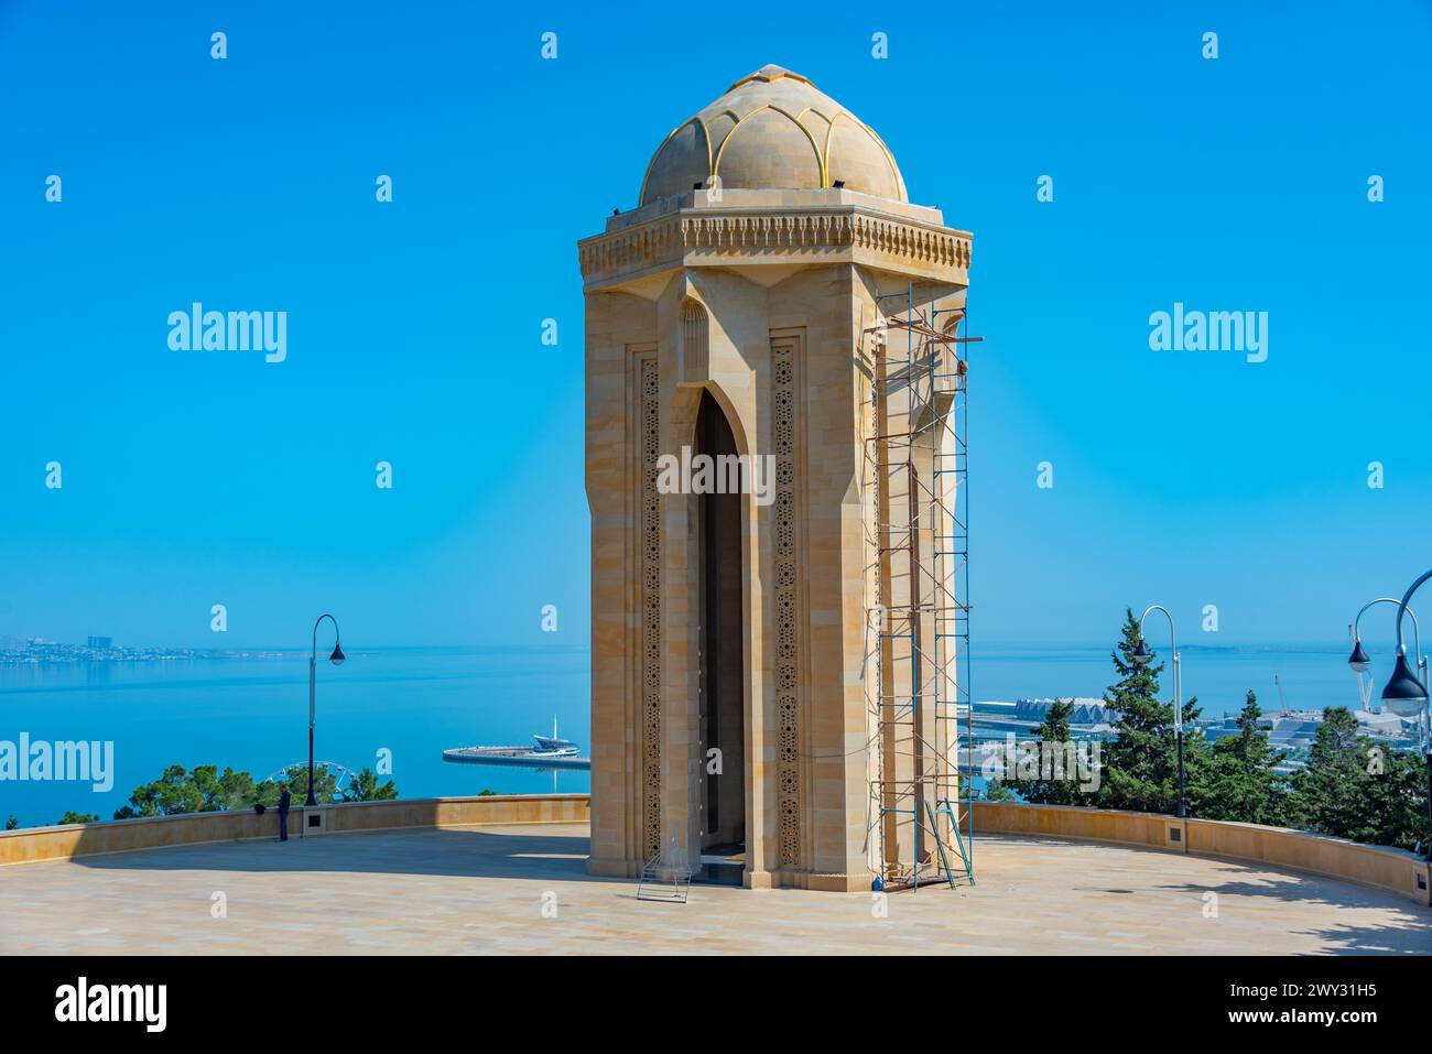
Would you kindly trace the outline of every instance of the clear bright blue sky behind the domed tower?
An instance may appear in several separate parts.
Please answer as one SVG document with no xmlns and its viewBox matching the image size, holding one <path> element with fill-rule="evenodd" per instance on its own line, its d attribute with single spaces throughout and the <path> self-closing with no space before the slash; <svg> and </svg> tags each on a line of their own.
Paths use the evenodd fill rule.
<svg viewBox="0 0 1432 1054">
<path fill-rule="evenodd" d="M 769 62 L 975 232 L 977 640 L 1340 646 L 1428 566 L 1428 3 L 642 9 L 0 3 L 0 633 L 586 643 L 576 241 Z M 288 359 L 170 352 L 193 301 Z M 1150 351 L 1176 301 L 1267 361 Z"/>
</svg>

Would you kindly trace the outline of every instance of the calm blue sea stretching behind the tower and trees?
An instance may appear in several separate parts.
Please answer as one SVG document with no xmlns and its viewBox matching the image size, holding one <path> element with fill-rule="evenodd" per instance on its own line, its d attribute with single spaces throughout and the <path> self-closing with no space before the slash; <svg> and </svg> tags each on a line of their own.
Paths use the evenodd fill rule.
<svg viewBox="0 0 1432 1054">
<path fill-rule="evenodd" d="M 1114 679 L 1107 647 L 974 653 L 977 699 L 1098 696 Z M 1236 710 L 1247 689 L 1276 709 L 1274 675 L 1289 706 L 1355 706 L 1356 680 L 1342 652 L 1190 647 L 1183 687 L 1209 716 Z M 1388 656 L 1373 656 L 1378 670 Z M 1169 672 L 1164 673 L 1166 679 Z M 318 672 L 316 756 L 351 769 L 392 752 L 404 798 L 553 789 L 553 773 L 444 765 L 450 746 L 528 743 L 551 730 L 587 750 L 586 650 L 391 649 L 355 652 Z M 149 663 L 0 666 L 0 740 L 113 740 L 115 788 L 0 782 L 0 818 L 53 823 L 66 811 L 107 819 L 139 783 L 168 765 L 216 763 L 256 778 L 308 756 L 308 656 Z M 584 792 L 584 772 L 556 776 Z"/>
</svg>

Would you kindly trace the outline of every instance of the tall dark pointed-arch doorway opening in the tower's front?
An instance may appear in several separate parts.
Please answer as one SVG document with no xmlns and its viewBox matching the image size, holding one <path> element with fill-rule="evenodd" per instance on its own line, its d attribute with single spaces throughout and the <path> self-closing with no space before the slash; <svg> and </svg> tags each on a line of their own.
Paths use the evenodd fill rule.
<svg viewBox="0 0 1432 1054">
<path fill-rule="evenodd" d="M 700 543 L 702 856 L 706 858 L 707 878 L 720 881 L 730 875 L 716 872 L 737 869 L 736 875 L 740 874 L 746 852 L 742 495 L 736 437 L 720 405 L 706 392 L 696 414 L 693 458 L 699 454 L 709 455 L 713 463 L 713 485 L 696 498 Z M 717 490 L 726 493 L 713 493 Z M 713 756 L 713 749 L 719 755 Z"/>
</svg>

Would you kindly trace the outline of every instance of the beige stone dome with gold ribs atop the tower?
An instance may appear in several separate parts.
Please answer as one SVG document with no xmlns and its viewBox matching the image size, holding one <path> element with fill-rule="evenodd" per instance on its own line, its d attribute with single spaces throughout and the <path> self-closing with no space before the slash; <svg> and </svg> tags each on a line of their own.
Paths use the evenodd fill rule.
<svg viewBox="0 0 1432 1054">
<path fill-rule="evenodd" d="M 799 73 L 763 66 L 672 132 L 647 165 L 642 205 L 707 186 L 851 190 L 908 200 L 895 158 L 859 117 Z"/>
</svg>

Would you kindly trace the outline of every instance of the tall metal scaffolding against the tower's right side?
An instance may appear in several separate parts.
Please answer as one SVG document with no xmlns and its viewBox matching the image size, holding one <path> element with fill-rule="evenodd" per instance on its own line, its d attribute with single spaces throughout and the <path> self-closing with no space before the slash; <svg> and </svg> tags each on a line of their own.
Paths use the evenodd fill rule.
<svg viewBox="0 0 1432 1054">
<path fill-rule="evenodd" d="M 981 338 L 964 294 L 911 284 L 875 308 L 861 334 L 872 888 L 974 885 L 964 349 Z"/>
</svg>

